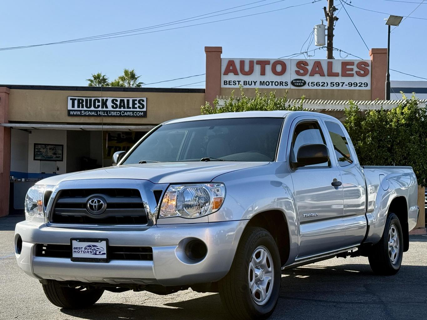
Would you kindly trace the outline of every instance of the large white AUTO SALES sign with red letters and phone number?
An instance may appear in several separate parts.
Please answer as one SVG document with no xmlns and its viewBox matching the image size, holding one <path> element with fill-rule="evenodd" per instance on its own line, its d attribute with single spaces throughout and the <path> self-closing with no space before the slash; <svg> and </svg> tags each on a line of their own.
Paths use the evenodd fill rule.
<svg viewBox="0 0 427 320">
<path fill-rule="evenodd" d="M 221 59 L 221 87 L 371 89 L 371 61 Z"/>
</svg>

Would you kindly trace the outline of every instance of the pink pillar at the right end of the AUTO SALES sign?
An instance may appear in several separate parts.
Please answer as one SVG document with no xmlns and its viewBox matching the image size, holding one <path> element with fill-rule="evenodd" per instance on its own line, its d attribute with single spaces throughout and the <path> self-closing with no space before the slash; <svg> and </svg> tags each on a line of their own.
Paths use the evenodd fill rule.
<svg viewBox="0 0 427 320">
<path fill-rule="evenodd" d="M 386 73 L 387 73 L 387 49 L 369 50 L 371 56 L 371 99 L 385 99 Z"/>
</svg>

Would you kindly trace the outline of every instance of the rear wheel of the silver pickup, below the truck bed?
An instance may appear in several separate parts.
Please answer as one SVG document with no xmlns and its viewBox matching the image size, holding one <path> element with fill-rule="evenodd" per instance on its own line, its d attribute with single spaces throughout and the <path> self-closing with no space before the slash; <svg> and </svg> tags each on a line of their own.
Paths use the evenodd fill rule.
<svg viewBox="0 0 427 320">
<path fill-rule="evenodd" d="M 403 233 L 399 218 L 393 212 L 389 212 L 383 236 L 372 246 L 368 255 L 372 271 L 383 276 L 398 273 L 402 264 L 403 250 Z"/>
</svg>

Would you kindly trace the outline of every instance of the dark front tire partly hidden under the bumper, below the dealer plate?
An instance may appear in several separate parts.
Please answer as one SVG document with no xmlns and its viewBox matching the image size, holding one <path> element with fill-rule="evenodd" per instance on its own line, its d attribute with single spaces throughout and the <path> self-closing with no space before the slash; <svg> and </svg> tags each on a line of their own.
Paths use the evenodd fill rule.
<svg viewBox="0 0 427 320">
<path fill-rule="evenodd" d="M 96 303 L 104 293 L 97 288 L 70 288 L 61 286 L 57 281 L 43 284 L 43 291 L 47 299 L 59 308 L 85 309 Z"/>
</svg>

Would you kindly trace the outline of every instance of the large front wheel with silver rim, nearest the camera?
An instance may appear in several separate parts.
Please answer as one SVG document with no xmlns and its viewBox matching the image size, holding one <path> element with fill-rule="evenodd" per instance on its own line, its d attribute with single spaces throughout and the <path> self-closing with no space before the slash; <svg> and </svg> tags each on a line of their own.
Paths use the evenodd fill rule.
<svg viewBox="0 0 427 320">
<path fill-rule="evenodd" d="M 246 228 L 230 271 L 218 283 L 222 303 L 233 319 L 266 319 L 278 302 L 280 281 L 281 263 L 275 240 L 263 228 Z"/>
</svg>

